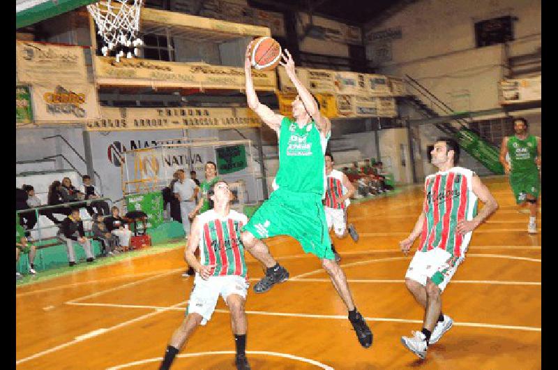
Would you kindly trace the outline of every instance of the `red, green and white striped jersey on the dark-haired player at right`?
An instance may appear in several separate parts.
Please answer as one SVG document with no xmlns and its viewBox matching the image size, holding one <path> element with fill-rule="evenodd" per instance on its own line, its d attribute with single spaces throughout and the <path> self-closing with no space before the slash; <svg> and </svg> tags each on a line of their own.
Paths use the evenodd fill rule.
<svg viewBox="0 0 558 370">
<path fill-rule="evenodd" d="M 461 220 L 476 216 L 477 197 L 473 193 L 472 170 L 453 167 L 445 172 L 429 175 L 424 183 L 425 220 L 419 251 L 441 248 L 460 257 L 467 251 L 472 232 L 458 234 Z"/>
</svg>

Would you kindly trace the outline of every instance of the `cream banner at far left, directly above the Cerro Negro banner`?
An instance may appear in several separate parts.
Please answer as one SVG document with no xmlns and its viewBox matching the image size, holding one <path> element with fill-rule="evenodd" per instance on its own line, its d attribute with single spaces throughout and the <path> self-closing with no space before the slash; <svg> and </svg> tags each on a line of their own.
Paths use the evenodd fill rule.
<svg viewBox="0 0 558 370">
<path fill-rule="evenodd" d="M 15 41 L 17 81 L 87 84 L 83 47 Z"/>
</svg>

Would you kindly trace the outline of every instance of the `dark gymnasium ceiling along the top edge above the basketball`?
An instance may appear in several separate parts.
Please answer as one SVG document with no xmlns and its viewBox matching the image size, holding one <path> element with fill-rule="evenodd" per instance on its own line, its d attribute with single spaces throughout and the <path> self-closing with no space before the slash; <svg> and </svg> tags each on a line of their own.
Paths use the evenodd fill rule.
<svg viewBox="0 0 558 370">
<path fill-rule="evenodd" d="M 322 15 L 347 24 L 361 25 L 379 20 L 414 0 L 248 0 L 264 10 L 296 10 Z"/>
</svg>

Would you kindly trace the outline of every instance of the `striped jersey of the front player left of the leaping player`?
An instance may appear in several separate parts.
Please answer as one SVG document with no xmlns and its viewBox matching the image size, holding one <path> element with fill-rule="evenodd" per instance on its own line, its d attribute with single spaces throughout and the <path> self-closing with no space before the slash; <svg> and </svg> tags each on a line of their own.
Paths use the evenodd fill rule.
<svg viewBox="0 0 558 370">
<path fill-rule="evenodd" d="M 231 209 L 220 219 L 214 209 L 197 216 L 199 225 L 199 261 L 216 265 L 212 276 L 238 275 L 246 277 L 244 247 L 240 233 L 246 225 L 246 215 Z"/>
</svg>

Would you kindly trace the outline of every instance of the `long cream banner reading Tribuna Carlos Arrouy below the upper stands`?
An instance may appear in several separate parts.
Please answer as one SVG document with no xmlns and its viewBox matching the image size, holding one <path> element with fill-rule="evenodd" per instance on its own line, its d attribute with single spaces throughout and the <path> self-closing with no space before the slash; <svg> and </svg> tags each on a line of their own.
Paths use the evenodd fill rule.
<svg viewBox="0 0 558 370">
<path fill-rule="evenodd" d="M 87 131 L 172 130 L 181 128 L 261 127 L 250 108 L 112 108 L 101 107 L 100 119 Z"/>
</svg>

